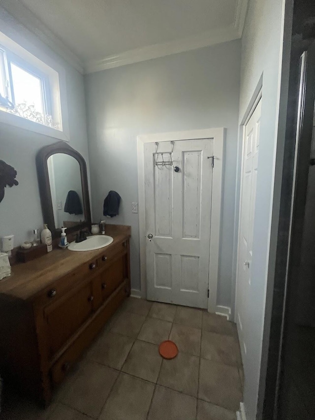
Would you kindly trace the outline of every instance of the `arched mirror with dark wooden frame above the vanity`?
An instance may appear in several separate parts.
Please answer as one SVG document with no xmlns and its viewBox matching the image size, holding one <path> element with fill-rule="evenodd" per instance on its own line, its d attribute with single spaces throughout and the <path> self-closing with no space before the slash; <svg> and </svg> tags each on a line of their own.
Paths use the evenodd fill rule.
<svg viewBox="0 0 315 420">
<path fill-rule="evenodd" d="M 91 228 L 88 176 L 84 158 L 64 142 L 43 147 L 36 167 L 44 223 L 53 237 Z"/>
</svg>

